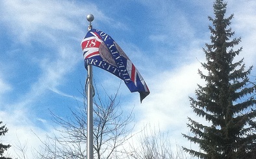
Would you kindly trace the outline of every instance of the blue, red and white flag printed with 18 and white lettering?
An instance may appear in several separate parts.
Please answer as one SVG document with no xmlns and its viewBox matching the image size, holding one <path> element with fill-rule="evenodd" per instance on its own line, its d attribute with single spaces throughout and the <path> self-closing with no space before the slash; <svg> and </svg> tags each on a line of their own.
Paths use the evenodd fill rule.
<svg viewBox="0 0 256 159">
<path fill-rule="evenodd" d="M 140 101 L 149 94 L 149 89 L 131 60 L 122 48 L 105 32 L 92 28 L 81 42 L 84 66 L 94 65 L 107 70 L 125 82 L 131 92 L 140 93 Z"/>
</svg>

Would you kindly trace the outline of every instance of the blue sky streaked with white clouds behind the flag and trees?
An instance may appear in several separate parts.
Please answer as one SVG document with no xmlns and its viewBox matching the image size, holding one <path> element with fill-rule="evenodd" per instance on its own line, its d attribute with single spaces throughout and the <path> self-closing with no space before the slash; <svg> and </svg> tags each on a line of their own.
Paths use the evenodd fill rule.
<svg viewBox="0 0 256 159">
<path fill-rule="evenodd" d="M 242 37 L 237 59 L 249 68 L 256 61 L 256 1 L 226 1 L 226 17 L 234 14 L 231 28 Z M 88 14 L 94 15 L 93 28 L 109 34 L 129 56 L 151 92 L 140 103 L 138 93 L 120 86 L 123 110 L 134 107 L 134 132 L 153 125 L 168 133 L 173 147 L 189 147 L 181 135 L 189 134 L 187 117 L 204 122 L 188 96 L 204 83 L 198 69 L 205 61 L 202 48 L 211 43 L 212 5 L 213 0 L 0 1 L 0 121 L 9 129 L 1 141 L 13 145 L 7 154 L 17 156 L 21 144 L 33 158 L 38 137 L 55 131 L 51 112 L 66 118 L 83 105 L 87 72 L 80 45 Z M 254 68 L 250 77 L 255 76 Z M 105 96 L 116 92 L 120 79 L 94 67 L 94 82 Z"/>
</svg>

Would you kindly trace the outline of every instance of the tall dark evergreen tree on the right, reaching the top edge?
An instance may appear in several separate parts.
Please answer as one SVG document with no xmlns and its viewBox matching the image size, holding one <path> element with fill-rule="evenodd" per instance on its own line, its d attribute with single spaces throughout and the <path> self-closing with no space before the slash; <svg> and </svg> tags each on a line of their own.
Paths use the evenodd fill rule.
<svg viewBox="0 0 256 159">
<path fill-rule="evenodd" d="M 225 18 L 226 6 L 223 0 L 214 2 L 215 18 L 209 17 L 211 44 L 203 48 L 206 62 L 201 63 L 207 74 L 199 70 L 206 85 L 198 85 L 196 98 L 190 97 L 193 111 L 209 124 L 188 118 L 194 135 L 183 136 L 198 144 L 199 151 L 183 149 L 198 158 L 256 158 L 255 85 L 248 78 L 252 67 L 246 69 L 243 59 L 233 62 L 242 47 L 234 48 L 240 38 L 232 38 L 233 14 Z"/>
</svg>

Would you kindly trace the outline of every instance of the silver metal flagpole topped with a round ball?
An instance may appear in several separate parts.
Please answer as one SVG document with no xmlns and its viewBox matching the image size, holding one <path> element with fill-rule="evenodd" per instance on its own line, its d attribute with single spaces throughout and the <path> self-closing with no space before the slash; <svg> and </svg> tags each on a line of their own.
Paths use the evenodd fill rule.
<svg viewBox="0 0 256 159">
<path fill-rule="evenodd" d="M 94 16 L 92 14 L 88 14 L 86 19 L 90 22 L 88 26 L 88 30 L 92 29 L 92 21 L 94 20 Z M 94 90 L 92 86 L 92 65 L 87 66 L 88 76 L 86 81 L 86 91 L 87 91 L 87 159 L 94 158 L 94 138 L 93 138 L 93 96 Z"/>
</svg>

